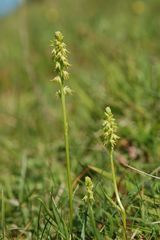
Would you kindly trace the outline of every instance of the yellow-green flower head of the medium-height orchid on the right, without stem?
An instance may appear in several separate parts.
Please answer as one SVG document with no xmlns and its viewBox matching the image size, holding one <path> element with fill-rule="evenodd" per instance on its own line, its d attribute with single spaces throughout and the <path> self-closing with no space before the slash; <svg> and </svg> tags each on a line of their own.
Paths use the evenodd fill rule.
<svg viewBox="0 0 160 240">
<path fill-rule="evenodd" d="M 104 135 L 104 145 L 110 145 L 113 149 L 119 139 L 117 133 L 116 120 L 112 114 L 110 107 L 105 109 L 105 119 L 103 121 L 103 135 Z"/>
</svg>

